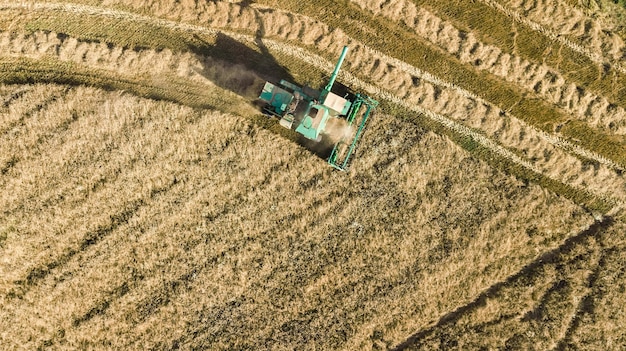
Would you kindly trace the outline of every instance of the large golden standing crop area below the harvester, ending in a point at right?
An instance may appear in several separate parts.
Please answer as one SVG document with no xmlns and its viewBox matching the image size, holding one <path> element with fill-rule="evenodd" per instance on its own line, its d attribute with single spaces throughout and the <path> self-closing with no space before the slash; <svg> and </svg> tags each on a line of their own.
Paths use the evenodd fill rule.
<svg viewBox="0 0 626 351">
<path fill-rule="evenodd" d="M 593 222 L 397 118 L 348 175 L 247 122 L 85 87 L 25 116 L 2 143 L 42 144 L 0 178 L 3 344 L 374 348 Z"/>
</svg>

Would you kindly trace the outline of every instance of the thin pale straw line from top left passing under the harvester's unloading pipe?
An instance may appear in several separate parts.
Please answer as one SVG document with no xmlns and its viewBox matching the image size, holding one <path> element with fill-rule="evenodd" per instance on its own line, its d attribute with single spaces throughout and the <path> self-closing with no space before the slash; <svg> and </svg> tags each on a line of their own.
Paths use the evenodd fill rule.
<svg viewBox="0 0 626 351">
<path fill-rule="evenodd" d="M 225 31 L 218 31 L 215 29 L 207 29 L 204 27 L 199 27 L 199 26 L 194 26 L 194 25 L 190 25 L 190 24 L 184 24 L 184 23 L 176 23 L 176 22 L 171 22 L 171 21 L 167 21 L 167 20 L 162 20 L 162 19 L 154 19 L 151 17 L 147 17 L 147 16 L 142 16 L 142 15 L 135 15 L 135 14 L 131 14 L 131 13 L 126 13 L 126 12 L 121 12 L 121 11 L 113 11 L 113 10 L 104 10 L 104 9 L 99 9 L 99 8 L 93 8 L 90 6 L 84 6 L 84 5 L 59 5 L 59 4 L 35 4 L 34 5 L 36 9 L 38 10 L 58 10 L 58 11 L 70 11 L 70 12 L 74 12 L 74 13 L 84 13 L 84 14 L 95 14 L 95 15 L 101 15 L 101 16 L 109 16 L 112 18 L 118 18 L 118 19 L 125 19 L 125 20 L 135 20 L 135 21 L 142 21 L 142 22 L 149 22 L 149 23 L 156 23 L 158 25 L 162 25 L 162 26 L 166 26 L 168 28 L 173 28 L 173 29 L 178 29 L 178 30 L 186 30 L 186 31 L 195 31 L 195 32 L 199 32 L 199 33 L 203 33 L 203 34 L 210 34 L 210 35 L 217 35 L 217 33 L 224 33 L 227 34 L 229 36 L 231 36 L 232 38 L 241 41 L 241 42 L 246 42 L 246 43 L 250 43 L 250 44 L 254 44 L 256 42 L 256 38 L 250 35 L 245 35 L 245 34 L 235 34 L 235 33 L 229 33 L 229 32 L 225 32 Z M 19 5 L 4 5 L 4 7 L 19 7 Z M 300 60 L 310 63 L 313 67 L 316 67 L 318 69 L 322 69 L 323 71 L 329 72 L 332 69 L 332 64 L 328 63 L 328 61 L 326 60 L 322 60 L 320 57 L 315 56 L 315 55 L 311 55 L 309 52 L 304 51 L 303 49 L 299 48 L 299 47 L 294 47 L 291 46 L 289 44 L 285 44 L 285 43 L 279 43 L 270 39 L 264 39 L 264 44 L 266 44 L 266 46 L 269 48 L 271 47 L 273 50 L 281 52 L 285 55 L 289 55 L 292 57 L 296 57 L 299 58 Z M 361 50 L 359 50 L 361 49 Z M 357 48 L 355 48 L 355 51 L 357 52 L 363 52 L 364 47 L 361 45 L 357 45 Z M 367 48 L 365 48 L 367 49 Z M 324 62 L 323 64 L 321 64 L 321 62 Z M 397 62 L 396 62 L 397 63 Z M 378 67 L 382 67 L 380 64 L 378 65 Z M 387 64 L 387 67 L 389 67 L 389 64 Z M 375 69 L 375 68 L 374 68 Z M 345 73 L 345 72 L 344 72 Z M 384 73 L 384 70 L 383 70 Z M 516 155 L 515 153 L 509 151 L 508 149 L 506 149 L 505 147 L 499 145 L 498 143 L 490 140 L 489 138 L 485 137 L 484 135 L 482 135 L 482 133 L 476 132 L 474 130 L 472 130 L 471 128 L 455 122 L 454 120 L 444 117 L 443 115 L 439 114 L 439 113 L 435 113 L 432 112 L 430 109 L 427 108 L 422 108 L 418 105 L 414 105 L 414 104 L 410 104 L 407 103 L 405 100 L 397 97 L 396 95 L 394 95 L 393 93 L 389 92 L 389 91 L 385 91 L 382 90 L 376 86 L 373 86 L 371 84 L 365 83 L 361 80 L 359 80 L 358 78 L 356 78 L 354 75 L 349 75 L 348 73 L 344 74 L 343 77 L 345 77 L 347 80 L 349 80 L 354 86 L 356 87 L 360 87 L 366 91 L 368 91 L 370 94 L 373 95 L 378 95 L 379 97 L 381 97 L 384 100 L 390 101 L 394 104 L 400 105 L 402 107 L 405 107 L 411 111 L 423 114 L 427 117 L 429 117 L 431 120 L 437 122 L 438 124 L 442 124 L 444 125 L 446 128 L 449 128 L 451 130 L 453 130 L 456 133 L 459 133 L 461 135 L 465 135 L 467 137 L 472 138 L 472 140 L 476 140 L 478 143 L 480 143 L 481 145 L 483 145 L 485 148 L 492 150 L 495 154 L 502 156 L 503 158 L 509 159 L 511 160 L 513 163 L 522 166 L 525 169 L 528 169 L 534 173 L 537 174 L 544 174 L 546 175 L 546 173 L 544 173 L 545 171 L 541 169 L 541 167 L 538 167 L 537 165 L 533 164 L 532 162 L 525 160 L 523 158 L 521 158 L 520 156 Z M 376 78 L 376 77 L 374 77 Z M 437 96 L 440 95 L 440 93 L 437 93 L 436 90 L 433 92 L 433 96 Z M 448 110 L 446 110 L 446 108 L 448 107 L 453 107 L 455 106 L 454 103 L 448 103 L 447 101 L 435 101 L 435 106 L 439 105 L 440 109 L 443 109 L 446 112 L 449 112 Z M 510 140 L 515 140 L 515 138 L 509 138 Z M 574 148 L 574 147 L 570 147 L 571 150 L 580 150 L 578 148 Z M 565 155 L 566 156 L 566 155 Z M 600 157 L 596 157 L 596 159 L 601 159 Z M 571 177 L 572 175 L 576 175 L 576 174 L 580 174 L 581 172 L 579 170 L 570 170 L 567 172 L 563 172 L 563 170 L 556 170 L 556 173 L 560 175 L 557 175 L 555 178 L 555 174 L 553 172 L 553 174 L 548 174 L 546 175 L 548 178 L 551 179 L 563 179 L 563 173 L 566 174 L 566 178 Z M 606 176 L 606 175 L 604 175 Z M 616 178 L 613 178 L 613 180 L 615 180 Z M 557 180 L 560 182 L 560 180 Z M 568 184 L 572 184 L 571 181 L 565 181 Z M 580 180 L 579 180 L 580 182 Z M 585 181 L 582 181 L 580 184 L 584 183 Z M 578 186 L 575 186 L 578 188 Z M 620 186 L 616 186 L 617 189 L 621 189 L 622 187 Z M 588 189 L 588 188 L 587 188 Z M 586 191 L 587 189 L 582 189 L 579 188 L 579 190 L 581 191 Z M 593 192 L 596 193 L 596 195 L 601 194 L 605 191 L 605 184 L 601 184 L 601 185 L 597 185 Z M 598 191 L 600 191 L 600 193 L 598 193 Z M 623 197 L 622 195 L 618 194 L 620 197 Z M 601 195 L 601 197 L 606 197 L 606 196 L 611 196 L 611 195 L 607 195 L 606 193 L 604 193 L 603 195 Z"/>
</svg>

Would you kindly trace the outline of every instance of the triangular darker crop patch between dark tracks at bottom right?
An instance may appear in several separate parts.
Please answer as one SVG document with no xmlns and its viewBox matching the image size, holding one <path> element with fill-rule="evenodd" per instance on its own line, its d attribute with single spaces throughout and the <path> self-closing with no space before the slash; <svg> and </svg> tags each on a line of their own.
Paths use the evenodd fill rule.
<svg viewBox="0 0 626 351">
<path fill-rule="evenodd" d="M 589 299 L 593 299 L 590 296 L 595 294 L 600 270 L 606 268 L 605 255 L 612 250 L 603 247 L 603 239 L 596 238 L 606 235 L 614 224 L 613 218 L 605 217 L 583 228 L 559 247 L 490 286 L 474 301 L 442 316 L 432 327 L 413 334 L 394 350 L 419 350 L 437 339 L 444 343 L 464 340 L 466 347 L 474 348 L 480 345 L 480 338 L 496 337 L 491 331 L 498 327 L 507 330 L 497 336 L 502 345 L 532 347 L 527 344 L 529 340 L 536 340 L 531 335 L 542 333 L 545 339 L 541 340 L 541 349 L 563 346 L 561 344 L 570 341 L 577 332 L 581 315 L 588 313 L 586 309 Z M 572 265 L 584 265 L 589 270 L 580 274 L 570 268 Z M 516 298 L 529 293 L 540 298 L 532 305 L 515 302 Z M 494 305 L 498 306 L 495 314 L 488 307 Z M 553 314 L 553 310 L 558 310 L 560 315 Z M 537 322 L 541 320 L 543 323 Z M 530 337 L 520 338 L 520 335 Z"/>
</svg>

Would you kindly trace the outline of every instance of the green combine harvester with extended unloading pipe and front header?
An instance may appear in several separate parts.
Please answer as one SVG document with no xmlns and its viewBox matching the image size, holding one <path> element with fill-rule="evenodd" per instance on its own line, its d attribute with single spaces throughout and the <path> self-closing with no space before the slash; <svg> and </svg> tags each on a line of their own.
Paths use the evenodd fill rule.
<svg viewBox="0 0 626 351">
<path fill-rule="evenodd" d="M 332 92 L 347 52 L 348 47 L 344 46 L 335 70 L 322 91 L 281 80 L 278 85 L 266 82 L 259 96 L 267 103 L 264 112 L 280 118 L 281 126 L 295 129 L 305 138 L 318 143 L 322 141 L 322 135 L 333 141 L 328 163 L 342 171 L 348 170 L 350 156 L 363 134 L 367 119 L 378 106 L 378 101 L 362 94 L 349 92 L 341 97 Z M 331 130 L 332 126 L 341 122 L 333 123 L 336 121 L 332 119 L 344 120 L 343 124 L 347 125 L 350 133 L 341 133 L 338 138 L 335 137 L 339 140 L 333 140 L 330 135 L 333 132 L 336 134 L 336 131 Z"/>
</svg>

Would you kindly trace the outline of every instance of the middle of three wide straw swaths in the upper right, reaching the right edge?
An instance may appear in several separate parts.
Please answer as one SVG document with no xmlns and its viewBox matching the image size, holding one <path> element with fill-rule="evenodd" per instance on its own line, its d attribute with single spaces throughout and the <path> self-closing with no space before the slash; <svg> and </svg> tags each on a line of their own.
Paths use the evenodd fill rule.
<svg viewBox="0 0 626 351">
<path fill-rule="evenodd" d="M 484 44 L 473 33 L 461 31 L 408 1 L 393 4 L 354 2 L 374 14 L 402 21 L 418 35 L 458 57 L 461 62 L 470 63 L 479 70 L 486 70 L 533 91 L 593 127 L 616 135 L 626 133 L 626 111 L 623 107 L 611 103 L 598 93 L 568 82 L 555 68 L 530 62 L 502 52 L 496 46 Z M 403 16 L 397 16 L 398 8 L 406 10 L 402 11 Z"/>
</svg>

